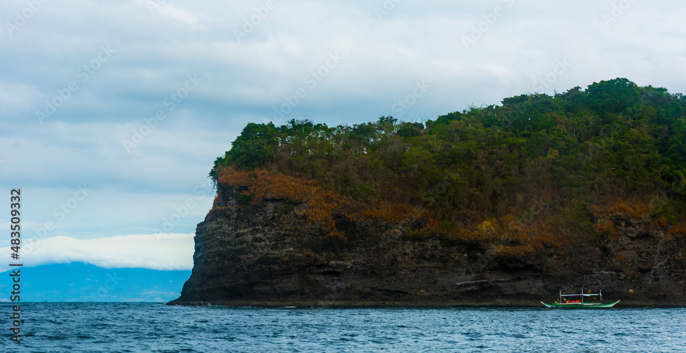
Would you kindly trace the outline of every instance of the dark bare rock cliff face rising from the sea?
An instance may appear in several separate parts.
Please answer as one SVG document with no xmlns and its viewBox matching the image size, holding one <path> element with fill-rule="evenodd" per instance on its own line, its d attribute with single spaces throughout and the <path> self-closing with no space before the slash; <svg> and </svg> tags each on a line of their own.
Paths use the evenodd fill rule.
<svg viewBox="0 0 686 353">
<path fill-rule="evenodd" d="M 622 306 L 686 305 L 686 238 L 622 210 L 595 219 L 612 229 L 605 239 L 498 252 L 492 241 L 415 232 L 421 217 L 334 213 L 331 236 L 307 221 L 307 202 L 246 202 L 245 187 L 217 188 L 191 277 L 169 304 L 537 306 L 584 287 Z"/>
</svg>

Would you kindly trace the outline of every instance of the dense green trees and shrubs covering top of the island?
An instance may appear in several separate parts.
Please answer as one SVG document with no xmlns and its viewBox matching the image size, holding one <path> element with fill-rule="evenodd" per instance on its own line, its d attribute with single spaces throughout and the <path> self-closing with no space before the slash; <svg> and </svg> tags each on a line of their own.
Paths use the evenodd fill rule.
<svg viewBox="0 0 686 353">
<path fill-rule="evenodd" d="M 602 233 L 593 207 L 683 221 L 685 139 L 683 95 L 615 79 L 423 122 L 249 123 L 210 175 L 303 178 L 370 207 L 429 210 L 446 228 L 539 217 L 556 232 Z"/>
</svg>

